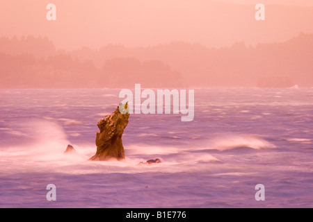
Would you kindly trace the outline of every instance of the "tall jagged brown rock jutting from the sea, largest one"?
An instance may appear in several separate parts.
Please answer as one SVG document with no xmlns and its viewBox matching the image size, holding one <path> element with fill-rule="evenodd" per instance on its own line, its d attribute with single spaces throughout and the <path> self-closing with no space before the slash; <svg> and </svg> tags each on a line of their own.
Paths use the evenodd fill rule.
<svg viewBox="0 0 313 222">
<path fill-rule="evenodd" d="M 122 134 L 128 124 L 128 119 L 127 103 L 125 105 L 120 103 L 112 114 L 106 115 L 98 122 L 100 132 L 97 132 L 95 141 L 97 152 L 89 160 L 125 159 Z"/>
</svg>

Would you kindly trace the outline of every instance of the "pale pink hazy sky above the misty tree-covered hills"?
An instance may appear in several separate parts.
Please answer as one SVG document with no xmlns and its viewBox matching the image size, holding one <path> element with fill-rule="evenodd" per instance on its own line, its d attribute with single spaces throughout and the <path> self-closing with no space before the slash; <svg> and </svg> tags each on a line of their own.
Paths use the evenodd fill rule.
<svg viewBox="0 0 313 222">
<path fill-rule="evenodd" d="M 56 21 L 46 19 L 48 3 L 56 4 Z M 266 6 L 265 21 L 255 20 L 255 3 Z M 238 41 L 282 42 L 300 32 L 313 33 L 312 23 L 312 0 L 0 1 L 1 36 L 47 36 L 67 50 L 110 43 L 184 41 L 220 47 Z"/>
</svg>

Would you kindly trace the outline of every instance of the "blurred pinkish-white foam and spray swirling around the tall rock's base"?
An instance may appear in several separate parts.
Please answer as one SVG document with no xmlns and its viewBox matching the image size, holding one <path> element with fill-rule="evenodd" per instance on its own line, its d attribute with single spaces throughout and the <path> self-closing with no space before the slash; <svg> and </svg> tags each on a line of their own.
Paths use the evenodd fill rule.
<svg viewBox="0 0 313 222">
<path fill-rule="evenodd" d="M 17 127 L 18 128 L 18 127 Z M 194 152 L 201 149 L 220 151 L 236 148 L 272 148 L 273 144 L 255 135 L 223 135 L 209 139 L 207 146 L 182 148 L 180 146 L 150 146 L 132 144 L 125 146 L 125 161 L 97 162 L 88 161 L 95 154 L 95 144 L 78 146 L 72 144 L 74 153 L 63 153 L 68 141 L 65 132 L 57 123 L 47 120 L 35 120 L 21 123 L 18 129 L 33 139 L 31 144 L 1 149 L 1 173 L 18 172 L 56 172 L 56 173 L 140 173 L 140 172 L 182 172 L 205 170 L 208 164 L 220 162 L 209 153 Z M 160 164 L 143 164 L 150 159 L 163 158 Z M 210 165 L 211 166 L 211 165 Z"/>
</svg>

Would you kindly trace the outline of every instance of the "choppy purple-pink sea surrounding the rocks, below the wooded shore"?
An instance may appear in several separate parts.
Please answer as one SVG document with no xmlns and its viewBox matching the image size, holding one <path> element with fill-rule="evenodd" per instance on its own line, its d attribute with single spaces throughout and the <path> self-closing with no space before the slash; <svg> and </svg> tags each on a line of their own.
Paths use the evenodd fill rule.
<svg viewBox="0 0 313 222">
<path fill-rule="evenodd" d="M 131 114 L 127 160 L 88 161 L 119 92 L 0 89 L 0 207 L 313 207 L 313 88 L 195 89 L 193 121 Z"/>
</svg>

